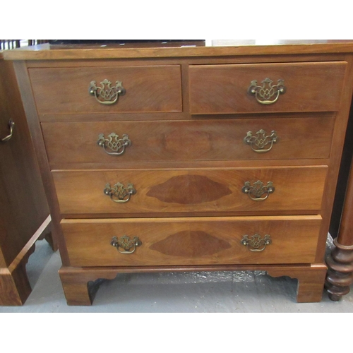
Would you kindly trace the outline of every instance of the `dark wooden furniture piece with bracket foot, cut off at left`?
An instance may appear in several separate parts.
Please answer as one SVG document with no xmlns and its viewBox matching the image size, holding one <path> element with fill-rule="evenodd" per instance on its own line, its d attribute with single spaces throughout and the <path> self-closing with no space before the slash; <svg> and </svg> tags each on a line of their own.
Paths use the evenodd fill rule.
<svg viewBox="0 0 353 353">
<path fill-rule="evenodd" d="M 25 264 L 49 209 L 13 64 L 0 59 L 0 138 L 9 119 L 13 136 L 0 141 L 0 305 L 18 306 L 31 292 Z"/>
</svg>

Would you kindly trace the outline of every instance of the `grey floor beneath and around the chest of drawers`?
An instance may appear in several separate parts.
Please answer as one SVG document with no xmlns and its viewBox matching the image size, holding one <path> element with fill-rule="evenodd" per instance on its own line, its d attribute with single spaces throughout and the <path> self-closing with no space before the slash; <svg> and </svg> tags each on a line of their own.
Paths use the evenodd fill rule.
<svg viewBox="0 0 353 353">
<path fill-rule="evenodd" d="M 0 313 L 353 313 L 353 286 L 338 302 L 324 293 L 320 303 L 297 304 L 297 280 L 260 271 L 118 275 L 102 282 L 92 306 L 67 306 L 60 267 L 59 252 L 37 241 L 27 265 L 30 297 Z"/>
</svg>

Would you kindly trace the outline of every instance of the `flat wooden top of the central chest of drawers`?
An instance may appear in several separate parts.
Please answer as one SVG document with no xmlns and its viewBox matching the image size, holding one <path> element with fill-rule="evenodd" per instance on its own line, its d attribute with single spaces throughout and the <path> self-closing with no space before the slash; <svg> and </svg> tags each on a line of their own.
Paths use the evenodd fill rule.
<svg viewBox="0 0 353 353">
<path fill-rule="evenodd" d="M 352 53 L 353 40 L 211 40 L 203 45 L 134 43 L 104 45 L 40 44 L 6 50 L 6 60 L 128 59 L 200 56 Z"/>
</svg>

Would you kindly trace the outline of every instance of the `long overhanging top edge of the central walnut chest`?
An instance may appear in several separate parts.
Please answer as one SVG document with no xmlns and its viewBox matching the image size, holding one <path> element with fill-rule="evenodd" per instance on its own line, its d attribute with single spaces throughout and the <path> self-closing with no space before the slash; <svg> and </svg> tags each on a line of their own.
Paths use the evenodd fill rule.
<svg viewBox="0 0 353 353">
<path fill-rule="evenodd" d="M 35 47 L 23 47 L 14 50 L 6 50 L 6 60 L 78 60 L 78 59 L 140 59 L 140 58 L 197 58 L 215 56 L 254 56 L 261 58 L 266 55 L 289 55 L 289 54 L 325 54 L 325 53 L 350 53 L 353 51 L 352 40 L 283 40 L 281 45 L 241 45 L 225 47 L 152 47 L 140 48 L 138 45 L 132 48 L 97 48 L 79 47 L 75 48 L 52 48 L 49 44 Z"/>
</svg>

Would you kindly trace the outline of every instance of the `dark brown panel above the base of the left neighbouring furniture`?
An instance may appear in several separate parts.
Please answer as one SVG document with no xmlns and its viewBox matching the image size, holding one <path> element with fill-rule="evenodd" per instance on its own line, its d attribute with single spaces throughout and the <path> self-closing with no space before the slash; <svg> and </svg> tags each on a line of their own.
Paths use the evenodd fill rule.
<svg viewBox="0 0 353 353">
<path fill-rule="evenodd" d="M 49 210 L 13 64 L 0 59 L 0 138 L 10 133 L 9 119 L 15 122 L 13 136 L 0 142 L 0 248 L 6 265 L 42 225 Z"/>
</svg>

